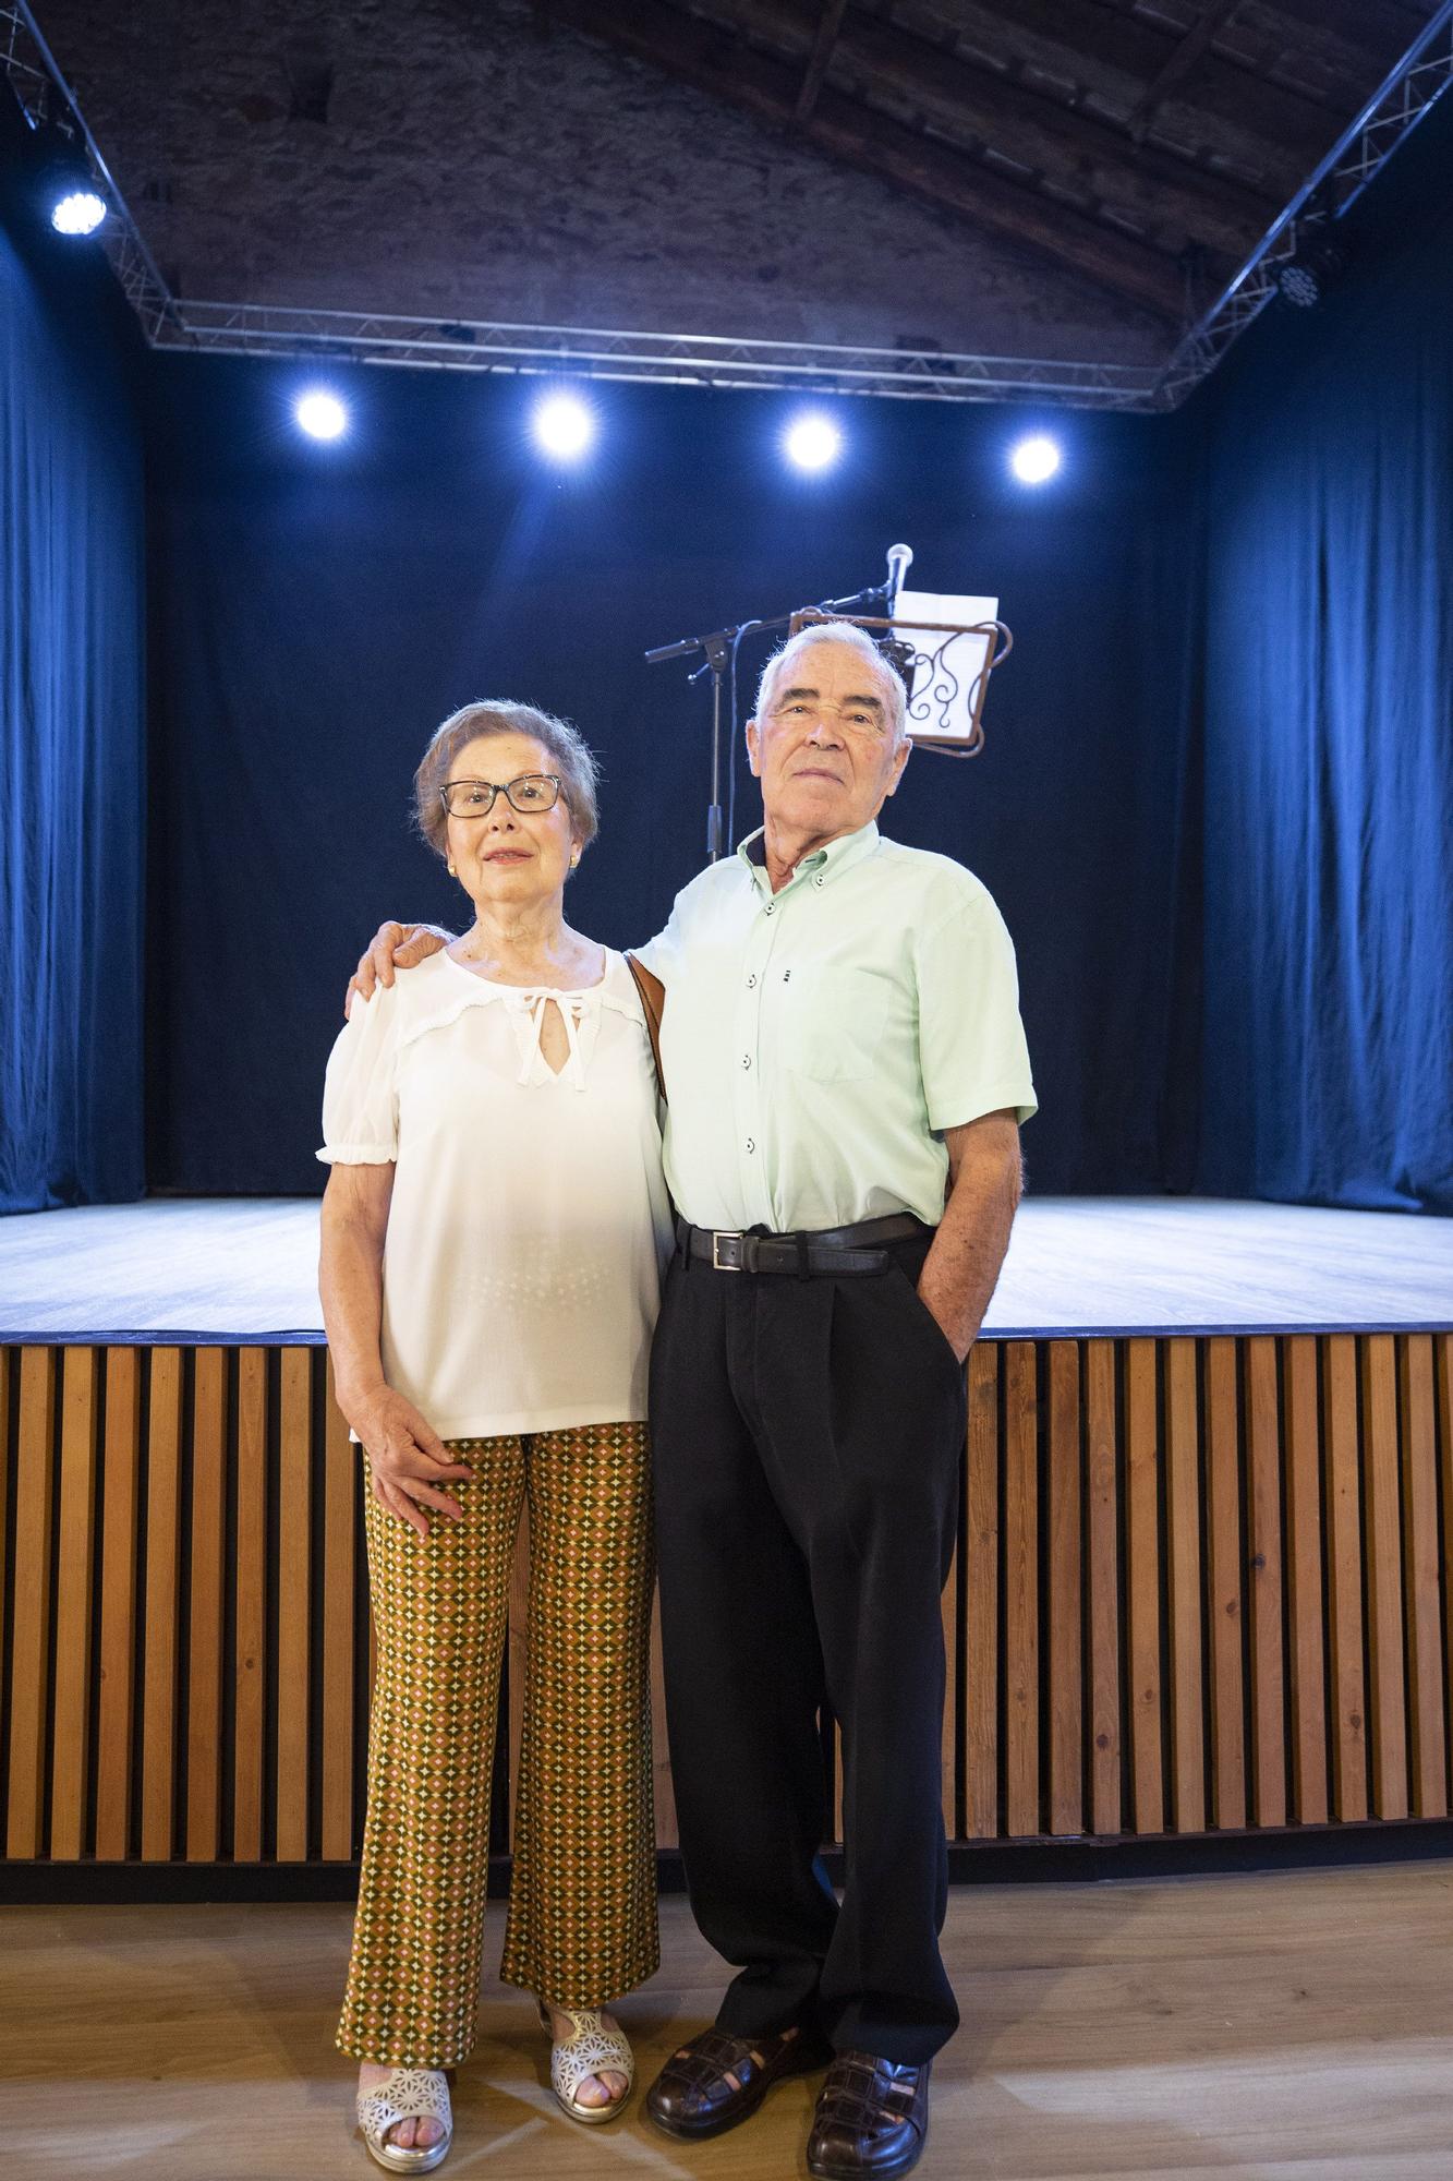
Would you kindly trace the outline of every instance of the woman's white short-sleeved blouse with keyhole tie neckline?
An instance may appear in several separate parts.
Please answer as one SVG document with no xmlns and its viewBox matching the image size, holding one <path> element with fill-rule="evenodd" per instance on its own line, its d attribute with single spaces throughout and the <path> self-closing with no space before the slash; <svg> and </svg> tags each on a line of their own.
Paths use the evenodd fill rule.
<svg viewBox="0 0 1453 2181">
<path fill-rule="evenodd" d="M 559 1075 L 541 1051 L 552 999 Z M 646 1415 L 672 1221 L 624 955 L 556 992 L 489 984 L 441 951 L 353 1001 L 323 1145 L 327 1165 L 395 1167 L 384 1376 L 441 1439 Z"/>
</svg>

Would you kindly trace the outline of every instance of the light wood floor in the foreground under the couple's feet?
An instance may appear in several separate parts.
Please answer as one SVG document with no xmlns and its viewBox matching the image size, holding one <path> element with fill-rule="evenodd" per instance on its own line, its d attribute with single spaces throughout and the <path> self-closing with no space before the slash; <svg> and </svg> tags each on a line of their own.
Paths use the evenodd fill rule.
<svg viewBox="0 0 1453 2181">
<path fill-rule="evenodd" d="M 491 1908 L 489 1959 L 502 1913 Z M 31 2177 L 364 2181 L 332 2050 L 338 1906 L 0 1911 L 0 2164 Z M 648 2081 L 722 1974 L 685 1902 L 620 2013 Z M 964 2028 L 921 2172 L 956 2181 L 1449 2181 L 1453 1865 L 1097 1887 L 964 1887 Z M 803 2174 L 816 2081 L 685 2150 L 556 2113 L 517 1993 L 484 1989 L 445 2172 Z"/>
</svg>

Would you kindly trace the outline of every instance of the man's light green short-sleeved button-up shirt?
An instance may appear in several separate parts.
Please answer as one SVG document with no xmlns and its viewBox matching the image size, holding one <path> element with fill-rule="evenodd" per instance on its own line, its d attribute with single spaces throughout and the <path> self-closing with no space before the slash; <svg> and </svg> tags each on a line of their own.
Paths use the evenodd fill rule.
<svg viewBox="0 0 1453 2181">
<path fill-rule="evenodd" d="M 803 857 L 779 894 L 753 833 L 639 957 L 665 986 L 665 1178 L 692 1226 L 936 1226 L 942 1130 L 1034 1112 L 988 890 L 875 824 Z"/>
</svg>

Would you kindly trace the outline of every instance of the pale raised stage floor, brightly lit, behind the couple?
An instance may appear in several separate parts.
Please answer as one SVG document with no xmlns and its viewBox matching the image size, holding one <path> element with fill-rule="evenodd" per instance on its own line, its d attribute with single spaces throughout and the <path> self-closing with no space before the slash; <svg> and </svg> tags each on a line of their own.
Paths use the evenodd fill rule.
<svg viewBox="0 0 1453 2181">
<path fill-rule="evenodd" d="M 312 1197 L 0 1219 L 0 1341 L 321 1341 Z M 986 1335 L 1453 1326 L 1453 1219 L 1204 1197 L 1030 1197 Z"/>
</svg>

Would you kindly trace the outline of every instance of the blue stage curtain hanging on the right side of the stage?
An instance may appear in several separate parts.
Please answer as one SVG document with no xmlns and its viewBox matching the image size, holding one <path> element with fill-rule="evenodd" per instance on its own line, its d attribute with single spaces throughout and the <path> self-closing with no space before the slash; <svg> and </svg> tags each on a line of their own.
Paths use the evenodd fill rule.
<svg viewBox="0 0 1453 2181">
<path fill-rule="evenodd" d="M 1453 1213 L 1453 98 L 1206 399 L 1200 1186 Z"/>
</svg>

